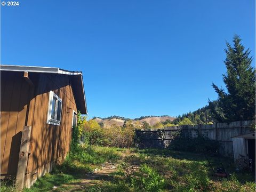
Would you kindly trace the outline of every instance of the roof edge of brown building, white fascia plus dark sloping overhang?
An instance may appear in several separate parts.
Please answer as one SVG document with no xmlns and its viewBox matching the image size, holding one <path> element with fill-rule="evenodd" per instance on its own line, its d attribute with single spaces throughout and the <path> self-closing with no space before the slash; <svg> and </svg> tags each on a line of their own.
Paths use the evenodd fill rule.
<svg viewBox="0 0 256 192">
<path fill-rule="evenodd" d="M 0 70 L 3 71 L 28 71 L 33 73 L 51 73 L 51 74 L 63 74 L 71 75 L 73 79 L 76 79 L 76 83 L 71 86 L 75 87 L 76 105 L 82 114 L 87 114 L 87 106 L 84 92 L 83 74 L 82 71 L 69 71 L 56 67 L 37 67 L 37 66 L 18 66 L 18 65 L 0 65 Z"/>
</svg>

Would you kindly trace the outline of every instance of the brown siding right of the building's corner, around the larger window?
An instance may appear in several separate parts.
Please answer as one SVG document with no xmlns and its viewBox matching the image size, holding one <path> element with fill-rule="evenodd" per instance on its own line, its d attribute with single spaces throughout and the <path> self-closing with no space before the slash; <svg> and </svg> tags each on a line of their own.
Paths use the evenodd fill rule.
<svg viewBox="0 0 256 192">
<path fill-rule="evenodd" d="M 62 99 L 60 126 L 46 124 L 51 90 Z M 67 154 L 72 133 L 72 113 L 73 110 L 77 111 L 69 78 L 65 75 L 41 74 L 36 94 L 27 173 Z"/>
</svg>

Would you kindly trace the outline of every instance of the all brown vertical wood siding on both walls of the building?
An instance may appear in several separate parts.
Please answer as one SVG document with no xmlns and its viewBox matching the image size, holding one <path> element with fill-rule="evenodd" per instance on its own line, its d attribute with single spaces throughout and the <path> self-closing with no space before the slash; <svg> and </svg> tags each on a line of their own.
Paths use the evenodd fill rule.
<svg viewBox="0 0 256 192">
<path fill-rule="evenodd" d="M 66 156 L 71 141 L 73 110 L 77 111 L 68 75 L 1 71 L 1 175 L 17 172 L 23 126 L 32 126 L 26 173 Z M 62 99 L 60 126 L 46 124 L 49 92 Z"/>
</svg>

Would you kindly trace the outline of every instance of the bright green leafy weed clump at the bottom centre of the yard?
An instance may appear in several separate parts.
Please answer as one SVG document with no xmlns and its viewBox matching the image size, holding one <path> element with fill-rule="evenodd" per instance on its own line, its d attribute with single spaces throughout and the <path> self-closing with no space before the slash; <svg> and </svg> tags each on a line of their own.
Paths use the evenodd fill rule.
<svg viewBox="0 0 256 192">
<path fill-rule="evenodd" d="M 162 191 L 165 185 L 165 179 L 146 164 L 130 177 L 131 185 L 136 191 Z"/>
</svg>

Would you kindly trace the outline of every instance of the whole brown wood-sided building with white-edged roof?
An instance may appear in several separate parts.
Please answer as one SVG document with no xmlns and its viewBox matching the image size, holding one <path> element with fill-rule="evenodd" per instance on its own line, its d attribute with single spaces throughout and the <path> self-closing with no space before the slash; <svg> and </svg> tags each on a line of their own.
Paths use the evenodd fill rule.
<svg viewBox="0 0 256 192">
<path fill-rule="evenodd" d="M 0 69 L 1 178 L 29 188 L 65 159 L 77 112 L 87 114 L 83 76 L 52 67 Z"/>
</svg>

